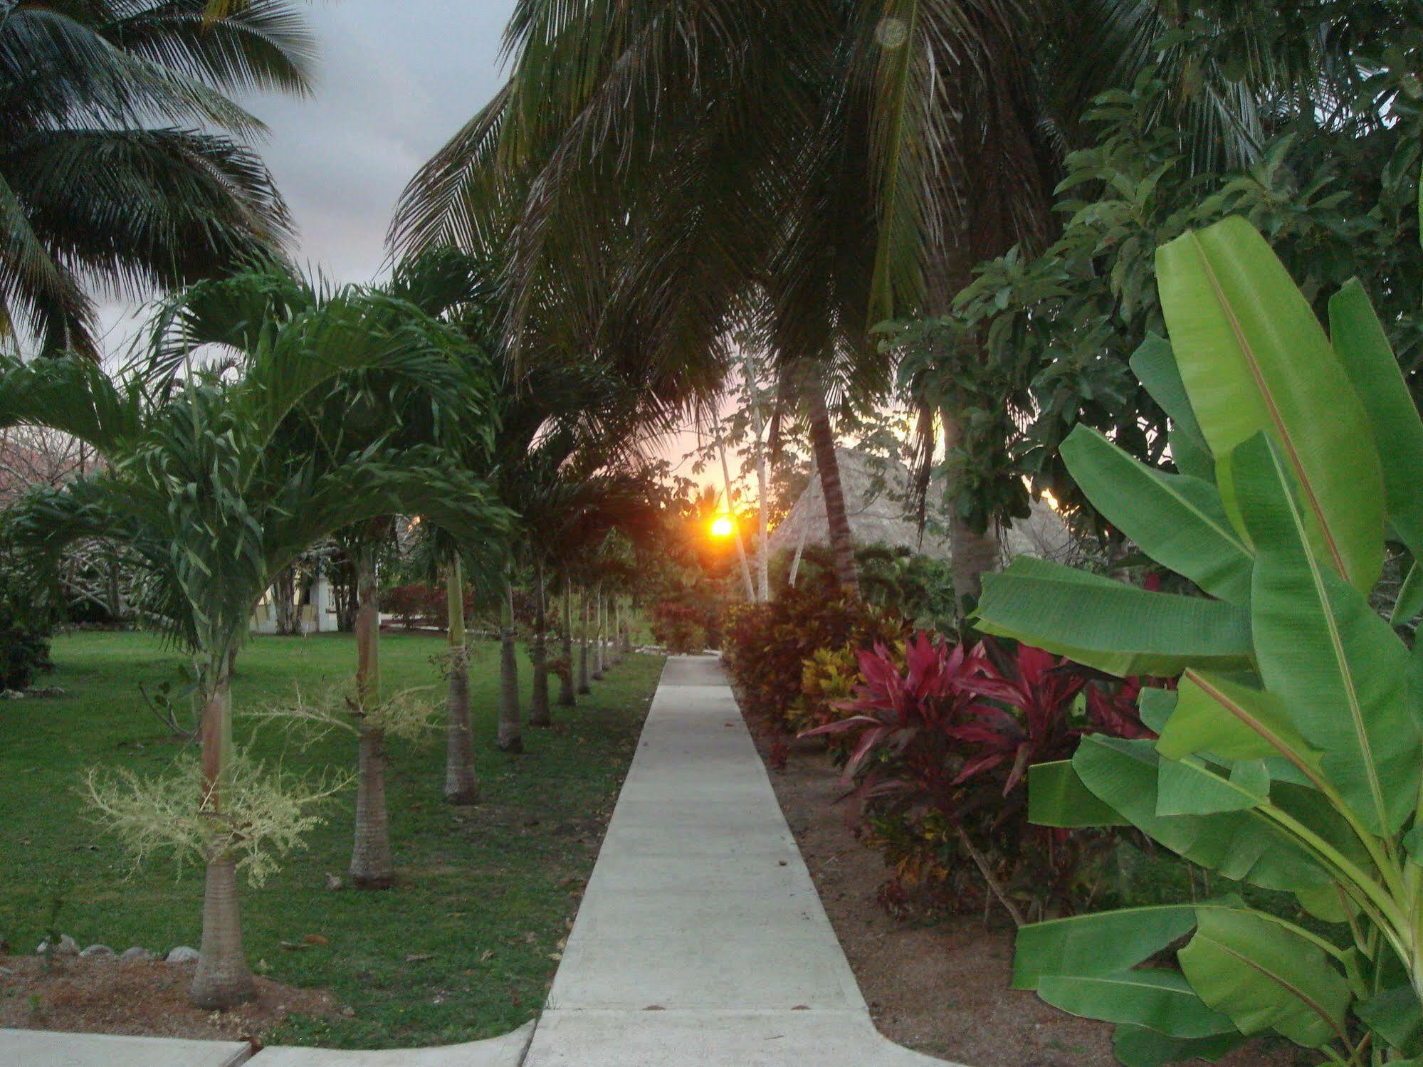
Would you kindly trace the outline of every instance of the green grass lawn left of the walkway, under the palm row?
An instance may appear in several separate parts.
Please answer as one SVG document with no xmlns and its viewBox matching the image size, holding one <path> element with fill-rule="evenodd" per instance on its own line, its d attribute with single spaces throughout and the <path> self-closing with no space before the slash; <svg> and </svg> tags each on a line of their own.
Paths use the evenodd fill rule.
<svg viewBox="0 0 1423 1067">
<path fill-rule="evenodd" d="M 440 684 L 444 642 L 383 635 L 387 691 Z M 238 662 L 243 707 L 280 700 L 300 684 L 350 686 L 356 646 L 346 635 L 258 637 Z M 166 950 L 198 946 L 202 876 L 171 864 L 132 874 L 90 819 L 77 785 L 91 765 L 159 773 L 181 751 L 145 707 L 138 684 L 178 679 L 182 657 L 135 633 L 84 633 L 54 642 L 57 670 L 38 684 L 64 697 L 0 703 L 0 933 L 16 952 L 43 938 L 47 901 L 67 883 L 60 928 L 78 943 Z M 524 684 L 529 684 L 521 656 Z M 354 792 L 262 889 L 243 886 L 248 959 L 259 973 L 322 986 L 353 1017 L 293 1017 L 270 1043 L 333 1047 L 416 1046 L 505 1033 L 531 1019 L 558 966 L 612 802 L 636 747 L 662 659 L 630 656 L 595 683 L 576 710 L 555 708 L 555 730 L 525 730 L 524 755 L 494 750 L 497 647 L 471 654 L 471 697 L 482 800 L 443 802 L 444 733 L 390 744 L 387 792 L 398 885 L 387 892 L 326 888 L 346 878 Z M 437 690 L 438 691 L 438 690 Z M 527 699 L 525 699 L 527 706 Z M 287 768 L 353 768 L 354 738 L 333 733 L 306 750 L 266 726 L 255 751 Z M 326 945 L 286 950 L 319 935 Z M 428 956 L 407 962 L 407 956 Z"/>
</svg>

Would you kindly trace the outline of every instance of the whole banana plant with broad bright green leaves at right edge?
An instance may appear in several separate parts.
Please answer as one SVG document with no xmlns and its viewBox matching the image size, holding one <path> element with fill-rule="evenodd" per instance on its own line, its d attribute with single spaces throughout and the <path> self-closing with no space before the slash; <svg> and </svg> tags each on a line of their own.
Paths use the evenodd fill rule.
<svg viewBox="0 0 1423 1067">
<path fill-rule="evenodd" d="M 1013 982 L 1117 1023 L 1134 1067 L 1257 1034 L 1328 1064 L 1423 1064 L 1423 657 L 1369 600 L 1386 542 L 1423 556 L 1423 421 L 1358 283 L 1326 331 L 1241 219 L 1163 246 L 1157 266 L 1170 343 L 1148 340 L 1133 370 L 1170 415 L 1174 469 L 1083 427 L 1063 458 L 1201 595 L 1020 559 L 986 579 L 979 626 L 1113 674 L 1180 676 L 1143 693 L 1158 740 L 1089 736 L 1032 770 L 1035 822 L 1131 825 L 1299 909 L 1227 895 L 1027 926 Z"/>
</svg>

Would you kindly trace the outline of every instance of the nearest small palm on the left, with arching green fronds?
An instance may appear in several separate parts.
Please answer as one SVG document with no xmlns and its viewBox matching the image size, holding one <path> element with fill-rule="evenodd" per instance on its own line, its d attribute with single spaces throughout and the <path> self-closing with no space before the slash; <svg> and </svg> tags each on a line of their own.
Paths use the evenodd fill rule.
<svg viewBox="0 0 1423 1067">
<path fill-rule="evenodd" d="M 0 361 L 0 425 L 43 424 L 107 460 L 101 474 L 26 502 L 27 541 L 51 556 L 77 538 L 121 543 L 141 561 L 149 617 L 194 654 L 203 812 L 223 807 L 232 753 L 231 663 L 275 576 L 333 529 L 393 511 L 431 511 L 471 534 L 502 512 L 470 475 L 433 452 L 370 447 L 330 457 L 289 432 L 300 407 L 342 374 L 380 366 L 438 376 L 444 357 L 388 327 L 388 309 L 342 293 L 263 331 L 240 377 L 115 384 L 73 360 Z M 206 856 L 202 956 L 194 1003 L 225 1009 L 255 994 L 242 953 L 236 858 Z"/>
</svg>

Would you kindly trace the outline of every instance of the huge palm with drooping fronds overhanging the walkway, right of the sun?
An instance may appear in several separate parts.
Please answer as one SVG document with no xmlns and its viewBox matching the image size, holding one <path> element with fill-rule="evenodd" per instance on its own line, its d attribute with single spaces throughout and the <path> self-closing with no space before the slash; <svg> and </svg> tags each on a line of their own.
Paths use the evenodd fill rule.
<svg viewBox="0 0 1423 1067">
<path fill-rule="evenodd" d="M 393 233 L 480 245 L 511 219 L 515 347 L 529 322 L 588 319 L 589 263 L 610 279 L 599 350 L 653 376 L 720 381 L 727 336 L 758 324 L 852 585 L 834 414 L 889 384 L 869 327 L 942 314 L 976 263 L 1042 245 L 1087 105 L 1146 70 L 1202 159 L 1249 158 L 1281 101 L 1328 111 L 1360 78 L 1342 43 L 1389 23 L 1353 7 L 1322 31 L 1257 3 L 519 0 L 508 84 L 416 175 Z M 932 414 L 952 444 L 962 411 Z M 975 593 L 996 545 L 951 521 Z"/>
</svg>

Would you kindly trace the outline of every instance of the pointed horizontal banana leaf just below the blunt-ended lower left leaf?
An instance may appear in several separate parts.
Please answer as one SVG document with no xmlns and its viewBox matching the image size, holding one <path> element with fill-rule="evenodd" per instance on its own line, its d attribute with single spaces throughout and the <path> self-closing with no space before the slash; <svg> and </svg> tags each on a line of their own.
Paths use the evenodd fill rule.
<svg viewBox="0 0 1423 1067">
<path fill-rule="evenodd" d="M 1211 1037 L 1235 1029 L 1174 970 L 1046 975 L 1037 996 L 1074 1016 L 1146 1026 L 1171 1037 Z"/>
</svg>

